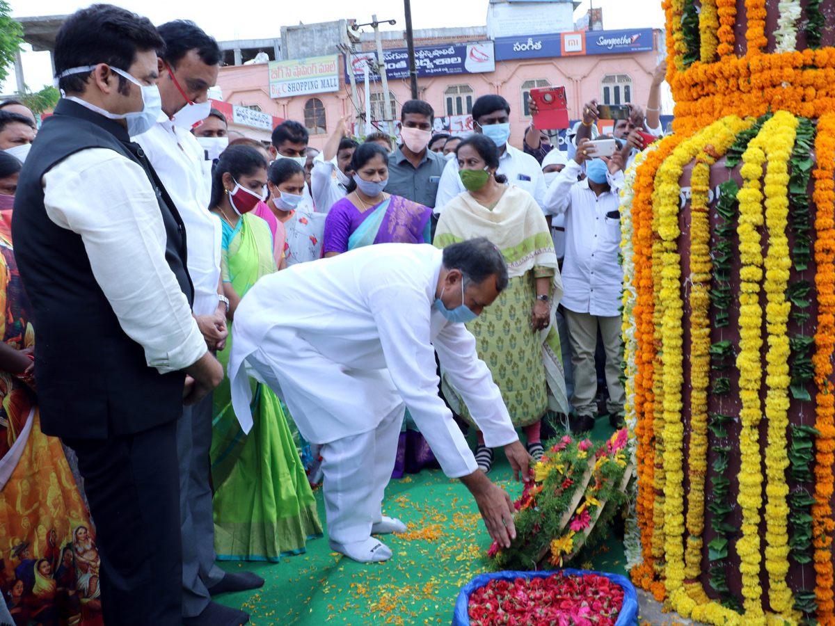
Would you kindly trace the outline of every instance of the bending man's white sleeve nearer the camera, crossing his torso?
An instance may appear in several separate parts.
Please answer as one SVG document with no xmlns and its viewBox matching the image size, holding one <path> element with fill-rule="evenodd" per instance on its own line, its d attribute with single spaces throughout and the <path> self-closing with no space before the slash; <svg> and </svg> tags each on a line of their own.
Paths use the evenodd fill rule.
<svg viewBox="0 0 835 626">
<path fill-rule="evenodd" d="M 406 283 L 380 285 L 369 294 L 382 351 L 394 386 L 448 477 L 478 469 L 453 414 L 438 396 L 426 294 Z"/>
</svg>

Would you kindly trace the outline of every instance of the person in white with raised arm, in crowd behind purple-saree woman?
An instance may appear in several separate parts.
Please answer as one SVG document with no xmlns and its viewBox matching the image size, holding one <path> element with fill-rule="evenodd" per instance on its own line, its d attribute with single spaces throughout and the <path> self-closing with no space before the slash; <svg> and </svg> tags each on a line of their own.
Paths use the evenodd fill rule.
<svg viewBox="0 0 835 626">
<path fill-rule="evenodd" d="M 331 206 L 346 196 L 347 186 L 354 174 L 351 157 L 358 146 L 357 141 L 351 139 L 347 118 L 342 116 L 325 148 L 313 158 L 310 186 L 318 213 L 327 213 Z M 333 177 L 334 172 L 336 178 Z"/>
</svg>

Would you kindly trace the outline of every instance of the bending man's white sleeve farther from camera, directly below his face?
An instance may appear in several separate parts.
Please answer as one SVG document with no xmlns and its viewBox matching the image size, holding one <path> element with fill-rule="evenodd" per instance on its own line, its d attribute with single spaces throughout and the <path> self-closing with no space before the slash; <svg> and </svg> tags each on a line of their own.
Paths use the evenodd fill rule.
<svg viewBox="0 0 835 626">
<path fill-rule="evenodd" d="M 475 337 L 467 326 L 448 323 L 435 337 L 434 346 L 449 381 L 483 432 L 484 445 L 500 447 L 518 441 L 502 392 L 487 364 L 478 358 Z"/>
</svg>

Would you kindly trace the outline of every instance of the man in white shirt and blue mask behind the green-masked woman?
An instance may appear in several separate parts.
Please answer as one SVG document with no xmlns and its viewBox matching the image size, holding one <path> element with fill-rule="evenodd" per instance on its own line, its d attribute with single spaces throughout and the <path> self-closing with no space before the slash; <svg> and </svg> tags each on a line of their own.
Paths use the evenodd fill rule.
<svg viewBox="0 0 835 626">
<path fill-rule="evenodd" d="M 498 146 L 496 174 L 504 174 L 508 179 L 508 184 L 515 184 L 534 196 L 537 204 L 544 210 L 545 180 L 542 169 L 539 168 L 539 161 L 508 143 L 510 138 L 510 104 L 508 101 L 496 94 L 478 98 L 473 103 L 473 129 L 476 133 L 486 134 Z M 458 175 L 458 159 L 450 159 L 441 174 L 441 182 L 438 183 L 435 215 L 441 215 L 443 207 L 465 190 L 461 177 Z"/>
</svg>

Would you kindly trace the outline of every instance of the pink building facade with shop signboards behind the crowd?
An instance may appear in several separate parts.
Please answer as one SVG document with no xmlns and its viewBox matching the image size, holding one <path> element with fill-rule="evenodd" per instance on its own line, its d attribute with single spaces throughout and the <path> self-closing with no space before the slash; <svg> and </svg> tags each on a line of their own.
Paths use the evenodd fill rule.
<svg viewBox="0 0 835 626">
<path fill-rule="evenodd" d="M 499 15 L 501 20 L 488 13 L 485 27 L 414 32 L 418 94 L 435 109 L 436 130 L 468 132 L 472 129 L 469 114 L 475 99 L 498 93 L 510 103 L 510 142 L 521 147 L 531 121 L 528 93 L 531 88 L 549 85 L 565 87 L 572 120 L 580 118 L 583 104 L 592 98 L 598 98 L 601 103 L 645 105 L 652 73 L 663 54 L 660 30 L 523 33 L 519 25 L 522 22 L 508 13 L 513 8 L 511 5 L 498 3 L 493 7 L 491 3 L 490 6 L 501 8 L 504 13 Z M 557 18 L 565 21 L 562 13 Z M 524 23 L 531 30 L 531 21 L 524 20 Z M 342 24 L 346 28 L 341 34 Z M 221 68 L 218 85 L 224 101 L 304 123 L 311 133 L 311 146 L 319 149 L 342 116 L 354 121 L 366 109 L 376 128 L 396 134 L 395 124 L 387 125 L 385 121 L 382 81 L 370 80 L 367 89 L 364 84 L 365 66 L 370 61 L 369 67 L 373 67 L 377 56 L 373 33 L 358 33 L 351 28 L 350 21 L 344 20 L 325 23 L 322 27 L 326 37 L 316 36 L 316 24 L 281 28 L 280 48 L 285 61 Z M 304 33 L 295 33 L 296 28 L 303 28 Z M 575 27 L 572 24 L 569 28 Z M 390 110 L 397 120 L 400 104 L 411 97 L 406 42 L 402 32 L 380 34 L 387 64 Z M 294 37 L 300 45 L 293 45 Z M 314 47 L 311 41 L 319 43 Z M 305 42 L 303 46 L 301 42 Z M 300 48 L 297 52 L 304 55 L 321 55 L 316 57 L 321 59 L 318 69 L 310 58 L 301 58 L 302 54 L 294 48 Z M 336 65 L 331 65 L 331 61 Z M 353 69 L 357 79 L 354 89 L 347 68 Z M 372 69 L 370 76 L 373 78 L 375 74 Z M 283 88 L 276 87 L 276 81 Z M 364 134 L 362 127 L 357 128 L 359 134 Z M 242 132 L 246 131 L 242 129 Z"/>
</svg>

